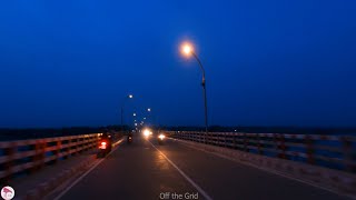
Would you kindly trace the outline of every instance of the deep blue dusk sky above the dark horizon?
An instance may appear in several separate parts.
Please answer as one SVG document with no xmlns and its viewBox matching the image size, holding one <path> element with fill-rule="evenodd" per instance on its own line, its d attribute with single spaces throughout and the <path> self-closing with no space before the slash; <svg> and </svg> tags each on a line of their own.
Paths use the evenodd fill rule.
<svg viewBox="0 0 356 200">
<path fill-rule="evenodd" d="M 0 127 L 204 124 L 187 39 L 210 124 L 356 126 L 355 36 L 355 0 L 1 1 Z"/>
</svg>

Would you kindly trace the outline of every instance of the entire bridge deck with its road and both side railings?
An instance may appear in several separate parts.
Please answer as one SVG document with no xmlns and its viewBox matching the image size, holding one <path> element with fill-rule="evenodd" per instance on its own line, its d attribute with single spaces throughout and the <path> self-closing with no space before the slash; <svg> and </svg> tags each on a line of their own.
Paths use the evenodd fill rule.
<svg viewBox="0 0 356 200">
<path fill-rule="evenodd" d="M 16 199 L 355 199 L 356 138 L 164 131 L 0 142 L 2 186 Z"/>
</svg>

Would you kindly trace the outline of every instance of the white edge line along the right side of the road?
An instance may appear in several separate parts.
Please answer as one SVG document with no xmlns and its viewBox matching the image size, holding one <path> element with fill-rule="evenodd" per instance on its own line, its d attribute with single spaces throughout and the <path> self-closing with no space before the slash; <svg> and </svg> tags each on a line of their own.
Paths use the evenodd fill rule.
<svg viewBox="0 0 356 200">
<path fill-rule="evenodd" d="M 320 190 L 325 190 L 325 191 L 328 191 L 330 193 L 334 193 L 334 194 L 337 194 L 337 196 L 340 196 L 340 197 L 348 197 L 348 198 L 355 198 L 353 196 L 348 196 L 348 194 L 340 194 L 338 193 L 336 190 L 333 190 L 333 189 L 329 189 L 329 188 L 326 188 L 326 187 L 323 187 L 323 186 L 317 186 L 313 182 L 309 182 L 309 181 L 306 181 L 306 180 L 303 180 L 303 179 L 298 179 L 298 178 L 295 178 L 295 177 L 291 177 L 291 176 L 288 176 L 288 174 L 285 174 L 285 173 L 280 173 L 278 171 L 274 171 L 274 170 L 269 170 L 267 168 L 264 168 L 264 167 L 258 167 L 258 166 L 255 166 L 255 164 L 251 164 L 251 163 L 247 163 L 247 162 L 244 162 L 244 161 L 238 161 L 238 160 L 235 160 L 228 156 L 225 156 L 225 154 L 220 154 L 219 152 L 211 152 L 211 151 L 208 151 L 208 150 L 205 150 L 202 148 L 199 148 L 199 147 L 195 147 L 194 144 L 188 144 L 188 143 L 185 143 L 185 141 L 180 141 L 178 139 L 175 139 L 175 138 L 168 138 L 170 140 L 174 140 L 174 141 L 178 141 L 179 144 L 182 144 L 187 148 L 190 148 L 190 149 L 195 149 L 195 150 L 198 150 L 198 151 L 202 151 L 205 153 L 208 153 L 208 154 L 212 154 L 212 156 L 216 156 L 216 157 L 219 157 L 219 158 L 222 158 L 222 159 L 226 159 L 226 160 L 229 160 L 229 161 L 233 161 L 233 162 L 236 162 L 236 163 L 239 163 L 239 164 L 245 164 L 247 167 L 251 167 L 251 168 L 255 168 L 255 169 L 258 169 L 258 170 L 261 170 L 261 171 L 265 171 L 265 172 L 268 172 L 268 173 L 271 173 L 271 174 L 275 174 L 275 176 L 280 176 L 283 178 L 286 178 L 286 179 L 289 179 L 289 180 L 293 180 L 293 181 L 296 181 L 296 182 L 301 182 L 301 183 L 305 183 L 305 184 L 308 184 L 308 186 L 312 186 L 312 187 L 315 187 L 317 189 L 320 189 Z M 215 147 L 215 146 L 214 146 Z"/>
</svg>

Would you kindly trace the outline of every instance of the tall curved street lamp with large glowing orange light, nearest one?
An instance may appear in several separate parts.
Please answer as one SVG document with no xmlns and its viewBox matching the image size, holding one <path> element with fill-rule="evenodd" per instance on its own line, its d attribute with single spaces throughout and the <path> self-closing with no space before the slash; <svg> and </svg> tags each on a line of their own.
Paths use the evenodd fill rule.
<svg viewBox="0 0 356 200">
<path fill-rule="evenodd" d="M 206 132 L 206 137 L 208 134 L 208 104 L 207 104 L 207 91 L 206 91 L 206 79 L 205 79 L 205 69 L 198 58 L 198 56 L 195 53 L 192 44 L 189 42 L 185 42 L 181 46 L 181 52 L 186 56 L 186 57 L 190 57 L 192 56 L 199 63 L 199 67 L 201 69 L 202 72 L 202 80 L 201 80 L 201 87 L 202 87 L 202 93 L 204 93 L 204 108 L 205 108 L 205 132 Z"/>
</svg>

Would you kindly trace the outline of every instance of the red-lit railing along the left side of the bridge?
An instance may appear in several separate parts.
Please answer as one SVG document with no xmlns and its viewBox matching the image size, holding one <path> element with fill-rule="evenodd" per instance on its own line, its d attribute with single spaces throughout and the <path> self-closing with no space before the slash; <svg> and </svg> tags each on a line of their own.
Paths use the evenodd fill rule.
<svg viewBox="0 0 356 200">
<path fill-rule="evenodd" d="M 97 147 L 100 133 L 0 142 L 0 180 Z M 113 136 L 115 137 L 115 136 Z"/>
</svg>

